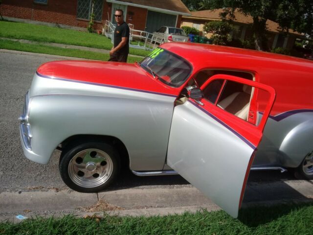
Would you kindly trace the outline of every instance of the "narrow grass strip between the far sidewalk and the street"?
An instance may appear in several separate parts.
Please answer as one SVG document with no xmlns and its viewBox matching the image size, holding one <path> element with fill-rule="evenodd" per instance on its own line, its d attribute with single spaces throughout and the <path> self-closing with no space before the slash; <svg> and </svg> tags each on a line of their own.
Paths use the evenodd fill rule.
<svg viewBox="0 0 313 235">
<path fill-rule="evenodd" d="M 91 60 L 109 60 L 109 54 L 104 54 L 100 52 L 79 50 L 79 49 L 70 49 L 70 48 L 60 48 L 60 47 L 51 47 L 45 45 L 33 45 L 20 42 L 13 42 L 10 40 L 1 40 L 0 39 L 0 48 L 9 49 L 9 50 L 18 50 L 18 51 L 27 51 L 41 54 L 49 55 L 61 55 L 61 56 L 70 56 L 76 58 L 84 58 Z M 141 58 L 128 57 L 128 63 L 134 63 L 135 61 L 140 61 Z"/>
</svg>

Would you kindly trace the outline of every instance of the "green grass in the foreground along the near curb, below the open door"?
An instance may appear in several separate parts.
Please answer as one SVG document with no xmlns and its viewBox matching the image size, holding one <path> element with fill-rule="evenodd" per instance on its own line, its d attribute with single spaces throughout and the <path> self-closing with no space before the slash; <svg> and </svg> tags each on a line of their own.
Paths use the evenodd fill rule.
<svg viewBox="0 0 313 235">
<path fill-rule="evenodd" d="M 132 217 L 109 216 L 78 218 L 65 215 L 61 218 L 25 220 L 19 224 L 0 223 L 0 234 L 50 235 L 311 235 L 313 203 L 250 208 L 240 211 L 233 219 L 224 211 L 181 215 Z"/>
</svg>

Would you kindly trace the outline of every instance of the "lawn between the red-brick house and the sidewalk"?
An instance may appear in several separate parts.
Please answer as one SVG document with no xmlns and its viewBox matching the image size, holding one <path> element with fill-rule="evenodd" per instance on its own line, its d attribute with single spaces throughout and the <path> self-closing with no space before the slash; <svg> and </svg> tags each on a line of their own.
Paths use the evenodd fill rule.
<svg viewBox="0 0 313 235">
<path fill-rule="evenodd" d="M 112 48 L 111 40 L 96 33 L 38 24 L 0 21 L 0 37 L 26 39 L 42 43 L 60 43 L 101 49 Z M 130 48 L 130 54 L 146 56 L 150 51 Z"/>
</svg>

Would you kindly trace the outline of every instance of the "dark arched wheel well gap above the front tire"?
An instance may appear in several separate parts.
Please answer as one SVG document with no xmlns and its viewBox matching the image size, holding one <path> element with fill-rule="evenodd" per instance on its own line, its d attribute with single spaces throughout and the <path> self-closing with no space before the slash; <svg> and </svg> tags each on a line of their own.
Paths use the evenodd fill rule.
<svg viewBox="0 0 313 235">
<path fill-rule="evenodd" d="M 121 140 L 113 136 L 75 135 L 68 137 L 66 140 L 62 141 L 59 146 L 61 147 L 60 150 L 63 151 L 64 149 L 72 148 L 75 145 L 92 141 L 110 144 L 112 147 L 115 148 L 116 151 L 118 151 L 121 158 L 122 167 L 129 168 L 129 154 L 127 148 Z"/>
</svg>

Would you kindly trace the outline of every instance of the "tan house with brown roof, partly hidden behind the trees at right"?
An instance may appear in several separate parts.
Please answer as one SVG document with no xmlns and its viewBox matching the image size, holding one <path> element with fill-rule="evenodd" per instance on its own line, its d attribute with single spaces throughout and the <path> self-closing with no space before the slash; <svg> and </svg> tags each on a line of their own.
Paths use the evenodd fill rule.
<svg viewBox="0 0 313 235">
<path fill-rule="evenodd" d="M 206 37 L 210 38 L 210 33 L 204 32 L 203 25 L 209 21 L 221 21 L 221 12 L 223 12 L 223 9 L 191 12 L 190 16 L 182 16 L 181 26 L 195 27 Z M 249 15 L 245 16 L 239 11 L 235 11 L 234 15 L 233 25 L 235 30 L 232 32 L 232 37 L 241 40 L 252 37 L 253 31 L 249 28 L 249 24 L 253 23 L 252 17 Z M 304 37 L 292 29 L 286 34 L 280 29 L 279 24 L 270 20 L 267 21 L 267 30 L 268 46 L 270 48 L 283 47 L 291 49 L 297 38 Z"/>
</svg>

